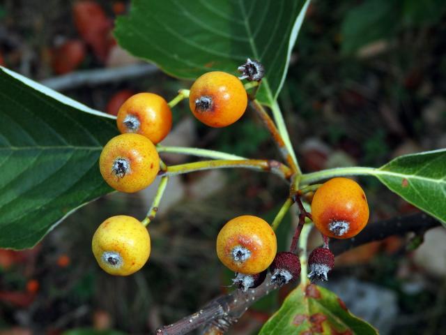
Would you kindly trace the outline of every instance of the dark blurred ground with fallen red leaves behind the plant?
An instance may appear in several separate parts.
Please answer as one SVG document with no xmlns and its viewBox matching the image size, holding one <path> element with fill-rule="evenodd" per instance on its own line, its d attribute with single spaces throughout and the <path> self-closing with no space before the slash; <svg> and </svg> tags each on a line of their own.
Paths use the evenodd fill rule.
<svg viewBox="0 0 446 335">
<path fill-rule="evenodd" d="M 137 63 L 112 38 L 114 17 L 130 1 L 91 1 L 95 10 L 88 13 L 79 12 L 78 2 L 1 1 L 1 64 L 39 81 Z M 401 154 L 446 147 L 445 11 L 442 0 L 312 1 L 279 96 L 305 172 L 379 166 Z M 113 113 L 129 94 L 153 91 L 169 100 L 188 85 L 158 71 L 63 93 Z M 180 103 L 174 124 L 163 144 L 279 159 L 252 112 L 233 126 L 211 129 Z M 375 179 L 361 181 L 371 221 L 415 211 Z M 1 250 L 0 334 L 146 334 L 197 311 L 231 290 L 232 274 L 215 257 L 218 230 L 240 214 L 271 220 L 288 192 L 275 176 L 245 170 L 174 178 L 149 228 L 148 265 L 128 278 L 108 276 L 91 254 L 94 230 L 112 215 L 143 217 L 154 191 L 114 193 L 70 216 L 36 248 Z M 281 250 L 294 225 L 292 216 L 281 225 Z M 337 259 L 329 288 L 381 334 L 443 334 L 445 237 L 444 228 L 436 228 L 410 252 L 410 236 L 357 248 Z M 318 243 L 314 234 L 312 245 Z M 259 301 L 231 334 L 256 334 L 290 290 Z"/>
</svg>

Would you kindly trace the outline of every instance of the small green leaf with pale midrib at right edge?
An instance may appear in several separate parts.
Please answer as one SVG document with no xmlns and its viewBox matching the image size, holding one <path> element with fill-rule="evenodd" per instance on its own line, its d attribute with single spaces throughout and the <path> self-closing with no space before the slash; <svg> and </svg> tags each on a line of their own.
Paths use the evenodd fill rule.
<svg viewBox="0 0 446 335">
<path fill-rule="evenodd" d="M 374 174 L 404 200 L 446 224 L 446 149 L 395 158 Z"/>
</svg>

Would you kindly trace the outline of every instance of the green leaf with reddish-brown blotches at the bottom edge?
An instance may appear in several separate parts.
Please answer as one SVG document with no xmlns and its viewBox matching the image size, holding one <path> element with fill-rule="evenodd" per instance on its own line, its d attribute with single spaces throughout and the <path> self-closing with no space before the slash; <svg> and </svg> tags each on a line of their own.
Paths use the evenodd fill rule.
<svg viewBox="0 0 446 335">
<path fill-rule="evenodd" d="M 376 335 L 378 332 L 351 314 L 333 292 L 311 284 L 295 288 L 259 334 Z"/>
</svg>

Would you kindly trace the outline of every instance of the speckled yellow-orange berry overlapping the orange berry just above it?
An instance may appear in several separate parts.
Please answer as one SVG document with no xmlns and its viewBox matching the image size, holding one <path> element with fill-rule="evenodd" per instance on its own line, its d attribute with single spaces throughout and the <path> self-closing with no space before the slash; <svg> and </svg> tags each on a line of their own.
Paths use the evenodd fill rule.
<svg viewBox="0 0 446 335">
<path fill-rule="evenodd" d="M 128 171 L 114 170 L 116 160 L 128 162 Z M 122 134 L 105 144 L 99 158 L 100 173 L 117 191 L 137 192 L 149 186 L 160 170 L 160 156 L 155 145 L 139 134 Z"/>
</svg>

